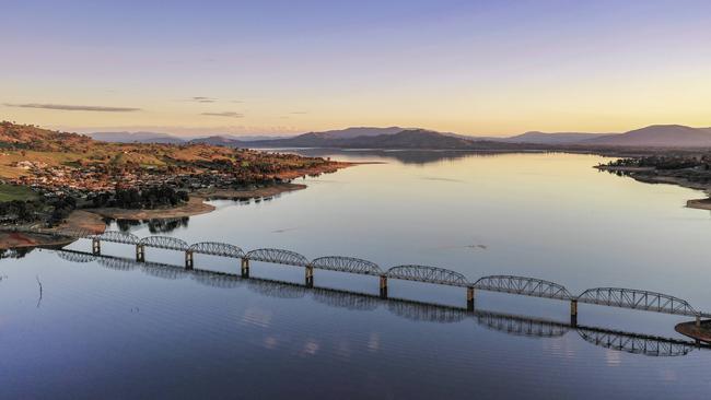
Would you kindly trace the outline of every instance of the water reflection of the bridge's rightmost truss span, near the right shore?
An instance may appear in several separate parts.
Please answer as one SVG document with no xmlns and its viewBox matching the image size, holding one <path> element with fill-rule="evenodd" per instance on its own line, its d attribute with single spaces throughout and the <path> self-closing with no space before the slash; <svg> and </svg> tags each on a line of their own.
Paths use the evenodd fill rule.
<svg viewBox="0 0 711 400">
<path fill-rule="evenodd" d="M 691 343 L 680 340 L 611 330 L 579 328 L 578 333 L 595 345 L 650 356 L 686 355 L 695 349 Z"/>
</svg>

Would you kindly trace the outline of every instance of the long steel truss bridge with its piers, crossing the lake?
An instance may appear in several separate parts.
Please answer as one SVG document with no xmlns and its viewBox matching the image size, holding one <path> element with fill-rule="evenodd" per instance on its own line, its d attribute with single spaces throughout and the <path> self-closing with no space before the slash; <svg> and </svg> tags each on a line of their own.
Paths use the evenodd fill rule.
<svg viewBox="0 0 711 400">
<path fill-rule="evenodd" d="M 136 260 L 141 262 L 145 261 L 145 248 L 183 251 L 185 252 L 186 270 L 194 269 L 195 255 L 240 259 L 241 274 L 245 278 L 249 275 L 250 261 L 300 267 L 305 269 L 306 286 L 313 286 L 314 270 L 380 277 L 380 295 L 383 298 L 387 298 L 389 280 L 403 280 L 464 287 L 467 291 L 467 307 L 469 309 L 474 309 L 475 291 L 477 290 L 558 299 L 570 302 L 570 317 L 574 323 L 576 323 L 578 319 L 579 303 L 695 317 L 697 323 L 701 322 L 701 318 L 711 318 L 711 314 L 697 310 L 685 299 L 668 294 L 636 289 L 594 287 L 582 292 L 580 295 L 573 295 L 561 284 L 527 277 L 489 275 L 469 280 L 459 272 L 439 267 L 407 264 L 385 269 L 372 261 L 343 256 L 326 256 L 308 260 L 305 256 L 291 250 L 259 248 L 245 251 L 232 244 L 220 242 L 188 244 L 172 236 L 147 236 L 141 238 L 118 231 L 106 231 L 102 234 L 71 231 L 65 234 L 73 235 L 72 237 L 75 238 L 91 239 L 92 254 L 94 255 L 101 255 L 101 244 L 103 242 L 136 246 Z"/>
</svg>

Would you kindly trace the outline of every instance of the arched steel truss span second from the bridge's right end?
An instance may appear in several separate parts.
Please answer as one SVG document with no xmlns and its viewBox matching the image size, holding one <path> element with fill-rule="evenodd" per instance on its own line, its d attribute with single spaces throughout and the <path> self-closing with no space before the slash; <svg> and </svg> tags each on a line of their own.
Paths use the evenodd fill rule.
<svg viewBox="0 0 711 400">
<path fill-rule="evenodd" d="M 556 298 L 568 301 L 573 296 L 566 286 L 536 278 L 515 275 L 483 277 L 474 283 L 474 287 L 489 292 L 503 292 L 524 296 Z"/>
</svg>

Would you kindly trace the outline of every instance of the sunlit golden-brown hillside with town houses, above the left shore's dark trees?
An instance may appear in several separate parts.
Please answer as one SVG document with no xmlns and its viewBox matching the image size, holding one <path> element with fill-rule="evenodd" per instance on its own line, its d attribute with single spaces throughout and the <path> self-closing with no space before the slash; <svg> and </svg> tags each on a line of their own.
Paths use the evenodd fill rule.
<svg viewBox="0 0 711 400">
<path fill-rule="evenodd" d="M 0 178 L 30 176 L 38 169 L 112 168 L 124 172 L 147 169 L 214 169 L 213 164 L 248 166 L 246 169 L 284 170 L 311 167 L 319 158 L 267 154 L 205 143 L 107 143 L 89 137 L 58 132 L 27 125 L 0 122 Z M 226 165 L 225 164 L 225 165 Z M 218 166 L 219 166 L 218 165 Z M 235 168 L 240 169 L 238 167 Z"/>
</svg>

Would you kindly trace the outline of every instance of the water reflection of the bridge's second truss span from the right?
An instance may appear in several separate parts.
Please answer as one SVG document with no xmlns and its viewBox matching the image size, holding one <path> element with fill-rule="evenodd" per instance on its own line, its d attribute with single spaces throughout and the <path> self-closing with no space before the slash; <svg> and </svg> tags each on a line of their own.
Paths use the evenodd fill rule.
<svg viewBox="0 0 711 400">
<path fill-rule="evenodd" d="M 525 318 L 496 313 L 477 313 L 477 322 L 509 334 L 557 338 L 568 332 L 568 325 L 543 319 Z"/>
</svg>

